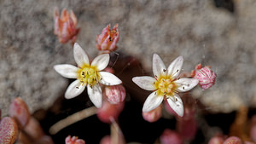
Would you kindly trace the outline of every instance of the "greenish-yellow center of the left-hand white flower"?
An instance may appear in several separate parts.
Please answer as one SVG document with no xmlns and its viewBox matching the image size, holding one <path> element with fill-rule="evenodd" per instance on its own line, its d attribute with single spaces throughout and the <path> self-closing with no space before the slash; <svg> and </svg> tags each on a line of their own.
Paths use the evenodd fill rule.
<svg viewBox="0 0 256 144">
<path fill-rule="evenodd" d="M 88 84 L 92 88 L 95 84 L 98 84 L 101 76 L 99 75 L 95 66 L 85 65 L 78 71 L 79 81 L 82 84 Z"/>
</svg>

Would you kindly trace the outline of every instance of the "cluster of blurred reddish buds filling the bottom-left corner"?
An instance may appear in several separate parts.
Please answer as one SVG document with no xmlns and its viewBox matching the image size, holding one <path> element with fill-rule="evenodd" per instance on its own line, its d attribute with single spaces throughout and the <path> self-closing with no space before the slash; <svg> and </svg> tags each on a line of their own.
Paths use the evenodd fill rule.
<svg viewBox="0 0 256 144">
<path fill-rule="evenodd" d="M 0 121 L 0 143 L 13 144 L 19 137 L 19 142 L 32 144 L 53 144 L 48 135 L 31 114 L 25 101 L 20 97 L 11 102 L 9 106 L 9 117 Z"/>
</svg>

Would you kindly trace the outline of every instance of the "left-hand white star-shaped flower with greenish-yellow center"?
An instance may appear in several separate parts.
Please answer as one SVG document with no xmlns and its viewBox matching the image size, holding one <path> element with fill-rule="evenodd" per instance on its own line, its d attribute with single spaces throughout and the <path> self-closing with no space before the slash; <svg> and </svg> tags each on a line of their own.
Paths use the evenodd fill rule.
<svg viewBox="0 0 256 144">
<path fill-rule="evenodd" d="M 77 78 L 70 84 L 65 93 L 65 98 L 71 99 L 80 95 L 87 86 L 87 93 L 90 101 L 96 107 L 102 107 L 102 88 L 100 84 L 104 85 L 117 85 L 122 81 L 109 72 L 101 72 L 108 66 L 109 55 L 98 55 L 91 64 L 88 56 L 78 43 L 74 43 L 73 56 L 78 64 L 78 67 L 62 64 L 55 65 L 54 69 L 65 78 Z"/>
</svg>

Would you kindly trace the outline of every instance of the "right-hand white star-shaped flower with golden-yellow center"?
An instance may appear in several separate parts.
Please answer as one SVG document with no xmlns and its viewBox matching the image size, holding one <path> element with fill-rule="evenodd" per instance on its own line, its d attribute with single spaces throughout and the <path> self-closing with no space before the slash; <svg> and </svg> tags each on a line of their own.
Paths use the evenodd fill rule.
<svg viewBox="0 0 256 144">
<path fill-rule="evenodd" d="M 173 60 L 166 69 L 160 56 L 154 54 L 154 78 L 148 76 L 132 78 L 132 81 L 142 89 L 153 90 L 144 103 L 143 112 L 150 112 L 158 107 L 166 97 L 170 107 L 172 107 L 177 115 L 183 117 L 183 101 L 177 95 L 177 92 L 185 92 L 194 88 L 198 84 L 198 80 L 195 78 L 177 78 L 182 66 L 182 56 Z"/>
</svg>

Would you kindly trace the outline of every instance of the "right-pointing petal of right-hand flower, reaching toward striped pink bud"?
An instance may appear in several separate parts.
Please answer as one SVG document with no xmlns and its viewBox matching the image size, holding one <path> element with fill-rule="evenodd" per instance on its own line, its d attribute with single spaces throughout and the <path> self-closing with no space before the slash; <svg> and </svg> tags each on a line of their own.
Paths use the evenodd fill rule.
<svg viewBox="0 0 256 144">
<path fill-rule="evenodd" d="M 178 92 L 185 92 L 193 89 L 197 84 L 198 80 L 195 78 L 179 78 L 174 81 L 177 84 L 177 91 Z"/>
</svg>

